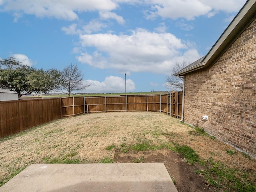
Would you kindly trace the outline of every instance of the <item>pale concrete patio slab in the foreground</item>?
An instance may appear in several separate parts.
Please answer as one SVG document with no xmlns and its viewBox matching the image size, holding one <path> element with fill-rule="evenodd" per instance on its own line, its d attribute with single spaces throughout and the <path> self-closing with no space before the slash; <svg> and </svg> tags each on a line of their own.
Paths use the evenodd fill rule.
<svg viewBox="0 0 256 192">
<path fill-rule="evenodd" d="M 32 164 L 0 192 L 178 192 L 163 163 Z"/>
</svg>

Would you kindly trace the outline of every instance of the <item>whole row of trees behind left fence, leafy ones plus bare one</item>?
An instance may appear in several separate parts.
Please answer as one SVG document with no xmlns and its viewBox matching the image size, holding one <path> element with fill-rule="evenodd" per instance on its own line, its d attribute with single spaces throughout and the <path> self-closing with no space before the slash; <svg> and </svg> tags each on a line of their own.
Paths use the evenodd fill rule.
<svg viewBox="0 0 256 192">
<path fill-rule="evenodd" d="M 23 65 L 14 57 L 0 60 L 0 88 L 15 91 L 19 98 L 31 93 L 49 93 L 54 90 L 83 90 L 90 84 L 83 83 L 82 71 L 77 64 L 70 64 L 64 70 L 36 69 Z"/>
</svg>

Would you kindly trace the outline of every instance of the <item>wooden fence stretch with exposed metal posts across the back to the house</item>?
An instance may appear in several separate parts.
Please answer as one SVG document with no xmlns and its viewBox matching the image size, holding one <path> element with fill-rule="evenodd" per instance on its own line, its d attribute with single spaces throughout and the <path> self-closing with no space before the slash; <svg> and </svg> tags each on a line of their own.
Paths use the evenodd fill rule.
<svg viewBox="0 0 256 192">
<path fill-rule="evenodd" d="M 163 95 L 124 95 L 61 98 L 62 117 L 92 112 L 158 111 L 181 117 L 182 92 Z"/>
</svg>

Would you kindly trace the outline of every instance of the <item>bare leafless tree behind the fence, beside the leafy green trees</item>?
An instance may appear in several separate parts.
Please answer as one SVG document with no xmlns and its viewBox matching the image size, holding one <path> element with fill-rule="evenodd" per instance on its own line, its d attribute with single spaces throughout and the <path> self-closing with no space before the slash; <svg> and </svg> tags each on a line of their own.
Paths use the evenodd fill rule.
<svg viewBox="0 0 256 192">
<path fill-rule="evenodd" d="M 77 64 L 70 64 L 61 72 L 61 86 L 68 91 L 68 96 L 72 91 L 83 90 L 91 86 L 91 84 L 83 83 L 84 75 L 78 69 Z"/>
</svg>

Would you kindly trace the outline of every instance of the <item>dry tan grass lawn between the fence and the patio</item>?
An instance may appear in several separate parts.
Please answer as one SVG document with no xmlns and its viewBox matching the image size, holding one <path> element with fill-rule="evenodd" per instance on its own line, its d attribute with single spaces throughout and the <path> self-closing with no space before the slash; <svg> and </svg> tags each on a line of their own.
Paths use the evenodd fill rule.
<svg viewBox="0 0 256 192">
<path fill-rule="evenodd" d="M 56 120 L 0 140 L 0 181 L 7 182 L 32 163 L 51 160 L 101 162 L 114 158 L 108 146 L 178 143 L 194 149 L 200 159 L 213 158 L 240 170 L 256 171 L 256 161 L 210 136 L 194 135 L 194 128 L 158 112 L 94 113 Z M 192 134 L 191 134 L 192 133 Z"/>
</svg>

